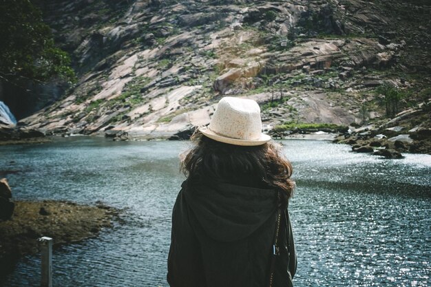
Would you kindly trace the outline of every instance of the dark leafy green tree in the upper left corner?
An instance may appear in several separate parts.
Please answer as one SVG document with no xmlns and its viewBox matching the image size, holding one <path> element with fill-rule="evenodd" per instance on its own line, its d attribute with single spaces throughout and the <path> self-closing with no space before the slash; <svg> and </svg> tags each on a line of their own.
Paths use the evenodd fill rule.
<svg viewBox="0 0 431 287">
<path fill-rule="evenodd" d="M 74 81 L 70 57 L 54 45 L 50 27 L 30 0 L 0 0 L 0 79 Z"/>
</svg>

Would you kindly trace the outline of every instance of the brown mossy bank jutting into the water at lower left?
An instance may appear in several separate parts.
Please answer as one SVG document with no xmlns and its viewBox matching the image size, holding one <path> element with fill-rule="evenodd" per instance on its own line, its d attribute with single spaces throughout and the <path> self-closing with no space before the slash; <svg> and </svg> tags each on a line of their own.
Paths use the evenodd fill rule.
<svg viewBox="0 0 431 287">
<path fill-rule="evenodd" d="M 39 251 L 37 238 L 52 237 L 54 246 L 96 237 L 112 226 L 118 210 L 104 204 L 67 201 L 14 201 L 10 220 L 0 222 L 0 274 L 9 273 L 22 255 Z"/>
</svg>

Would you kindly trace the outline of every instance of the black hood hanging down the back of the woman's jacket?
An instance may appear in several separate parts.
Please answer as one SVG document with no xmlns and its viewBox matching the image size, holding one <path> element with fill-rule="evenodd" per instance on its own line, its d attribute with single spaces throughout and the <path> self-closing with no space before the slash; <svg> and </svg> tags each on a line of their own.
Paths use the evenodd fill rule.
<svg viewBox="0 0 431 287">
<path fill-rule="evenodd" d="M 228 183 L 182 184 L 189 209 L 214 240 L 242 240 L 277 210 L 277 191 Z"/>
</svg>

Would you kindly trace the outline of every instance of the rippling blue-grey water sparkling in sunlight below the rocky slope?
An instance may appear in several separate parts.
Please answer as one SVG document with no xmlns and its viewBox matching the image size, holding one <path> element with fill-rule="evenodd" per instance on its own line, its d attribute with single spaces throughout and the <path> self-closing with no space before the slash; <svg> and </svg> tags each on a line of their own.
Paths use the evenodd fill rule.
<svg viewBox="0 0 431 287">
<path fill-rule="evenodd" d="M 383 160 L 346 145 L 285 140 L 297 182 L 290 203 L 296 287 L 429 286 L 431 156 Z M 114 228 L 54 249 L 54 286 L 168 286 L 171 209 L 188 142 L 64 138 L 0 147 L 14 199 L 100 200 L 124 209 Z M 0 286 L 39 286 L 39 255 Z"/>
</svg>

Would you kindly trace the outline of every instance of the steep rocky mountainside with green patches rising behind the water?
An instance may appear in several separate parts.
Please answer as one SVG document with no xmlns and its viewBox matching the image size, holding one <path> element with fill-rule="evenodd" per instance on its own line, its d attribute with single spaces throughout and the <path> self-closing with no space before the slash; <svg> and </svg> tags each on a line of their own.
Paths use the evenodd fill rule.
<svg viewBox="0 0 431 287">
<path fill-rule="evenodd" d="M 29 129 L 183 138 L 227 95 L 257 100 L 275 136 L 299 123 L 430 129 L 428 1 L 38 3 L 78 82 L 21 119 Z"/>
</svg>

